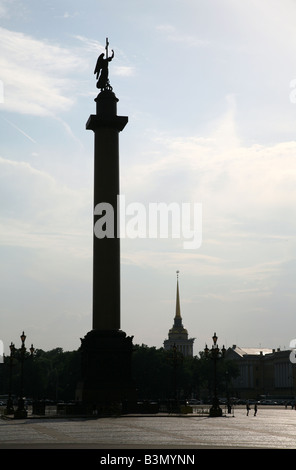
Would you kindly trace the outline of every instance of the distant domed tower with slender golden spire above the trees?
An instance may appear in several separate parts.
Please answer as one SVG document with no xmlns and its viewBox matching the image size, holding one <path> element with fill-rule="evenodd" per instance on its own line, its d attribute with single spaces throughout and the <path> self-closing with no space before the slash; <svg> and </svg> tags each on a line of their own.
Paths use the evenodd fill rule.
<svg viewBox="0 0 296 470">
<path fill-rule="evenodd" d="M 177 294 L 176 294 L 176 314 L 174 318 L 174 325 L 169 330 L 168 339 L 163 343 L 164 349 L 170 350 L 174 346 L 177 351 L 181 352 L 183 356 L 193 356 L 193 343 L 195 338 L 188 338 L 188 331 L 183 327 L 181 309 L 180 309 L 180 296 L 179 296 L 179 271 L 177 271 Z"/>
</svg>

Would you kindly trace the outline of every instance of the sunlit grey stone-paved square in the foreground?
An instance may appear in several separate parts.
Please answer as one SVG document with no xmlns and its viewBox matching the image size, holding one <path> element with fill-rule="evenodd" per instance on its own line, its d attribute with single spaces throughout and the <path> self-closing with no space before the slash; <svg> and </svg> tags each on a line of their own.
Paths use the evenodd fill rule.
<svg viewBox="0 0 296 470">
<path fill-rule="evenodd" d="M 296 411 L 243 408 L 221 418 L 121 416 L 0 420 L 0 448 L 295 449 Z"/>
</svg>

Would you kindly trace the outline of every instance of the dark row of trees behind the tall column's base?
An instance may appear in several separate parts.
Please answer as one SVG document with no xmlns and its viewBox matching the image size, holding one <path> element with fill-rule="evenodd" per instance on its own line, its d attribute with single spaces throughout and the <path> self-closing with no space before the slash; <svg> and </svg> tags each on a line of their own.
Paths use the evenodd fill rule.
<svg viewBox="0 0 296 470">
<path fill-rule="evenodd" d="M 175 350 L 135 345 L 132 355 L 132 377 L 139 400 L 164 400 L 190 397 L 207 401 L 214 389 L 213 360 L 199 356 L 183 357 Z M 0 364 L 0 395 L 24 396 L 32 400 L 47 399 L 69 402 L 75 399 L 80 379 L 80 350 L 36 350 L 26 353 L 21 372 L 20 358 L 6 356 Z M 233 361 L 217 361 L 216 386 L 219 396 L 231 395 L 231 379 L 238 370 Z"/>
</svg>

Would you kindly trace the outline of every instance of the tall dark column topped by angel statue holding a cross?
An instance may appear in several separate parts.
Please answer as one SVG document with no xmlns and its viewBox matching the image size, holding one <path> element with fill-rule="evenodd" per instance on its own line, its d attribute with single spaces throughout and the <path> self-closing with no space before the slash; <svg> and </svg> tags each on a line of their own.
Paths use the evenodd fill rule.
<svg viewBox="0 0 296 470">
<path fill-rule="evenodd" d="M 97 408 L 134 400 L 131 379 L 132 337 L 120 330 L 119 132 L 128 122 L 117 116 L 108 78 L 114 57 L 102 53 L 96 63 L 96 114 L 86 129 L 94 132 L 94 235 L 92 330 L 81 339 L 82 382 L 76 398 Z M 106 213 L 106 208 L 109 210 Z M 112 217 L 110 218 L 110 214 Z M 108 215 L 108 217 L 107 217 Z"/>
</svg>

